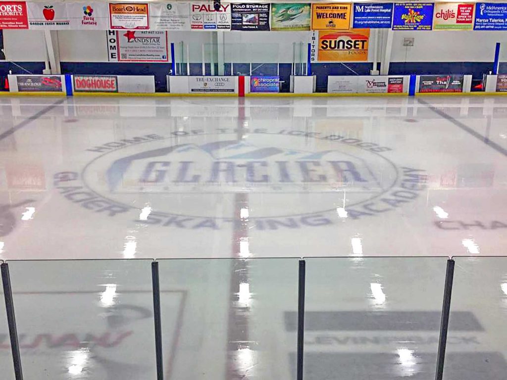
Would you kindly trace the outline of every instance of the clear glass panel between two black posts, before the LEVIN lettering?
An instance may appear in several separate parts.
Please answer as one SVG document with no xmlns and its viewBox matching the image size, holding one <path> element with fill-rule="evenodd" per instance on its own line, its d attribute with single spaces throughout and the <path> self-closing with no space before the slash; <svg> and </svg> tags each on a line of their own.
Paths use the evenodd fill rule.
<svg viewBox="0 0 507 380">
<path fill-rule="evenodd" d="M 307 259 L 305 380 L 434 378 L 445 271 L 440 257 Z"/>
</svg>

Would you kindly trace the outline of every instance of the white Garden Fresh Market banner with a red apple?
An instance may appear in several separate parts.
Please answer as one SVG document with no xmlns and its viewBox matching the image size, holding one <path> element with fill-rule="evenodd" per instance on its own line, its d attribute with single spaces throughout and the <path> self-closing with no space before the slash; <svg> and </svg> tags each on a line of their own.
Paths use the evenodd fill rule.
<svg viewBox="0 0 507 380">
<path fill-rule="evenodd" d="M 70 29 L 65 3 L 26 3 L 29 29 Z"/>
</svg>

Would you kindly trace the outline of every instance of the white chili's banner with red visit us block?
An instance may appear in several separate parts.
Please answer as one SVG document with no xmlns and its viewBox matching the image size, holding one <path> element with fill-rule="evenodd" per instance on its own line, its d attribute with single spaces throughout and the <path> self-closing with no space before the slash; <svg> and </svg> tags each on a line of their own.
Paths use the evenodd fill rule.
<svg viewBox="0 0 507 380">
<path fill-rule="evenodd" d="M 435 3 L 434 30 L 472 30 L 475 4 Z"/>
</svg>

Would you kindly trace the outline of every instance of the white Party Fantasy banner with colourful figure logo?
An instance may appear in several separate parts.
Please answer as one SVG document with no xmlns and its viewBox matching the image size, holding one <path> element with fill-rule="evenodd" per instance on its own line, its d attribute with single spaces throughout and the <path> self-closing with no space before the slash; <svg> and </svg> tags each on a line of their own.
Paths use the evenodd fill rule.
<svg viewBox="0 0 507 380">
<path fill-rule="evenodd" d="M 106 3 L 67 3 L 71 29 L 107 30 L 109 11 Z"/>
</svg>

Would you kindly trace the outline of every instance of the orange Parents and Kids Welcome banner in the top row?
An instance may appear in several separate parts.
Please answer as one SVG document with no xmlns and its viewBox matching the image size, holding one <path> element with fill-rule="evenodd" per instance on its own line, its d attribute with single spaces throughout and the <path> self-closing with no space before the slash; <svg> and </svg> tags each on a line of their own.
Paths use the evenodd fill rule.
<svg viewBox="0 0 507 380">
<path fill-rule="evenodd" d="M 312 4 L 312 30 L 348 30 L 352 4 Z"/>
</svg>

